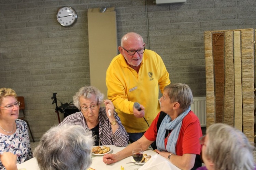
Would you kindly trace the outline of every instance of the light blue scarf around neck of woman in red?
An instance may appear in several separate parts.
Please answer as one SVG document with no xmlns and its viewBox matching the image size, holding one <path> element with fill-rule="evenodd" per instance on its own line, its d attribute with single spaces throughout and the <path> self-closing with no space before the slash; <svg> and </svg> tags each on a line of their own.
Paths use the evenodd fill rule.
<svg viewBox="0 0 256 170">
<path fill-rule="evenodd" d="M 188 114 L 189 111 L 190 107 L 173 121 L 171 120 L 171 117 L 169 115 L 165 116 L 165 118 L 161 122 L 161 125 L 156 136 L 156 146 L 159 151 L 167 150 L 168 152 L 176 154 L 175 146 L 180 134 L 182 120 Z M 165 149 L 166 130 L 172 130 L 172 132 L 168 138 Z"/>
</svg>

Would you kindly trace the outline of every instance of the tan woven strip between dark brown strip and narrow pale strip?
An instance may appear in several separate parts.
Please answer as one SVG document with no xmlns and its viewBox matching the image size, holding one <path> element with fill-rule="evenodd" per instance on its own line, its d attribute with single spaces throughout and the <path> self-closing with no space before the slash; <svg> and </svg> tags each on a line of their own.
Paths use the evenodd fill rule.
<svg viewBox="0 0 256 170">
<path fill-rule="evenodd" d="M 225 93 L 223 122 L 234 126 L 233 32 L 225 32 Z"/>
</svg>

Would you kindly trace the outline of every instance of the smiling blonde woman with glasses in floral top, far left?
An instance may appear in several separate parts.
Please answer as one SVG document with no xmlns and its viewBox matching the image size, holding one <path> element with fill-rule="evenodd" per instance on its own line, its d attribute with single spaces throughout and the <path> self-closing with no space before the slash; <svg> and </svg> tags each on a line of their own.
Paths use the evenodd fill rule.
<svg viewBox="0 0 256 170">
<path fill-rule="evenodd" d="M 11 152 L 17 156 L 17 163 L 33 157 L 28 128 L 25 121 L 18 119 L 19 102 L 13 89 L 0 88 L 0 154 Z M 4 169 L 0 161 L 0 169 Z"/>
</svg>

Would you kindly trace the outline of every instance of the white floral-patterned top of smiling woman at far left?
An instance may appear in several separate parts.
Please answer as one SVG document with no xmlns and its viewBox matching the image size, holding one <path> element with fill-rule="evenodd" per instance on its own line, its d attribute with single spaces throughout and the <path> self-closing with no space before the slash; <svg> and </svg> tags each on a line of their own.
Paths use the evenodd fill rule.
<svg viewBox="0 0 256 170">
<path fill-rule="evenodd" d="M 12 152 L 17 155 L 17 163 L 23 163 L 33 157 L 27 123 L 17 119 L 16 132 L 12 135 L 3 135 L 0 133 L 0 154 L 4 152 Z M 0 169 L 5 169 L 0 160 Z"/>
</svg>

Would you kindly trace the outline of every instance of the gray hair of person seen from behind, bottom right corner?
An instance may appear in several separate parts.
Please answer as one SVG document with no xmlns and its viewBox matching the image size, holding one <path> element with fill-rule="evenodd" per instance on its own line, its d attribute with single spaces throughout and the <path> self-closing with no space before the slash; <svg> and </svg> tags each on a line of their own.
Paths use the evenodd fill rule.
<svg viewBox="0 0 256 170">
<path fill-rule="evenodd" d="M 219 170 L 254 169 L 253 149 L 246 136 L 227 124 L 216 123 L 206 131 L 205 156 Z"/>
</svg>

